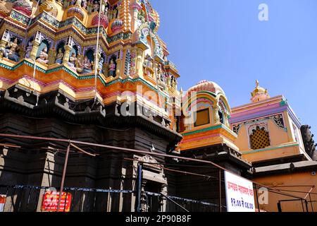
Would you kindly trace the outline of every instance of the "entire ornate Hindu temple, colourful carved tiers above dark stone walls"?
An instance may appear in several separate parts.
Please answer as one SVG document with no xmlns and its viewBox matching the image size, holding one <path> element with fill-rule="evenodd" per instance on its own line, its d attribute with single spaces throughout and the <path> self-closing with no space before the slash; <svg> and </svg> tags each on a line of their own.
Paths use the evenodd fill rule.
<svg viewBox="0 0 317 226">
<path fill-rule="evenodd" d="M 0 136 L 0 194 L 30 201 L 5 211 L 44 211 L 64 179 L 71 211 L 175 210 L 173 197 L 225 210 L 223 173 L 186 158 L 267 186 L 317 184 L 309 126 L 285 97 L 257 81 L 251 102 L 232 108 L 212 81 L 179 89 L 159 28 L 148 0 L 0 1 L 0 133 L 46 138 Z M 62 179 L 65 140 L 82 145 L 68 149 Z"/>
</svg>

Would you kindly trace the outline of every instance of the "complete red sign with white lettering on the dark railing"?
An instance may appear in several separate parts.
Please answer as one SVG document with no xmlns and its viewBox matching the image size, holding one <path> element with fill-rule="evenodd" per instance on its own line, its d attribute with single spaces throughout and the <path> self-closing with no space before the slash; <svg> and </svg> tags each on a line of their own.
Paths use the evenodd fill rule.
<svg viewBox="0 0 317 226">
<path fill-rule="evenodd" d="M 47 191 L 43 197 L 42 210 L 43 211 L 57 211 L 59 191 Z M 61 205 L 59 206 L 60 212 L 69 212 L 72 195 L 62 193 Z"/>
</svg>

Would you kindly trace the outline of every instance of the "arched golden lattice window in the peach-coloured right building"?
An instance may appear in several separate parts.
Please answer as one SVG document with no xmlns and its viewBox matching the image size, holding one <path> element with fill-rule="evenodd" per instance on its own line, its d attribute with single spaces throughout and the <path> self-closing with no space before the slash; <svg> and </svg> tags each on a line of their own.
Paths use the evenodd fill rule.
<svg viewBox="0 0 317 226">
<path fill-rule="evenodd" d="M 257 150 L 268 147 L 270 144 L 270 136 L 264 128 L 256 126 L 250 135 L 251 149 Z"/>
</svg>

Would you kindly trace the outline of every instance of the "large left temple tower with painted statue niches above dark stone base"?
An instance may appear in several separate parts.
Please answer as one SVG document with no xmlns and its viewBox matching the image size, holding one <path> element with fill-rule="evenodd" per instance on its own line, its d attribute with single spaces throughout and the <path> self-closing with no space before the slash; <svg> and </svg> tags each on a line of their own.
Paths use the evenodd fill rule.
<svg viewBox="0 0 317 226">
<path fill-rule="evenodd" d="M 159 153 L 181 140 L 174 116 L 179 73 L 157 35 L 160 18 L 149 1 L 8 0 L 0 11 L 1 133 Z M 62 143 L 0 139 L 22 147 L 4 148 L 0 184 L 59 186 Z M 98 157 L 70 153 L 65 186 L 135 189 L 137 162 L 125 158 L 144 156 L 83 148 Z M 155 179 L 156 190 L 167 192 L 160 168 L 145 166 L 143 173 L 144 186 Z M 135 195 L 108 200 L 113 205 L 104 201 L 100 208 L 135 209 Z"/>
</svg>

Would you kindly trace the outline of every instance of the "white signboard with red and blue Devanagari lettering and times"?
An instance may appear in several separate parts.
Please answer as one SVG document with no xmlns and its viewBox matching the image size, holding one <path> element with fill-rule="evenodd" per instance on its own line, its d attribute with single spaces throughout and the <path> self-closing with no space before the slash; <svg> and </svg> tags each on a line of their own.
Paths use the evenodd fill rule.
<svg viewBox="0 0 317 226">
<path fill-rule="evenodd" d="M 228 212 L 255 212 L 253 184 L 225 171 L 225 195 Z"/>
</svg>

